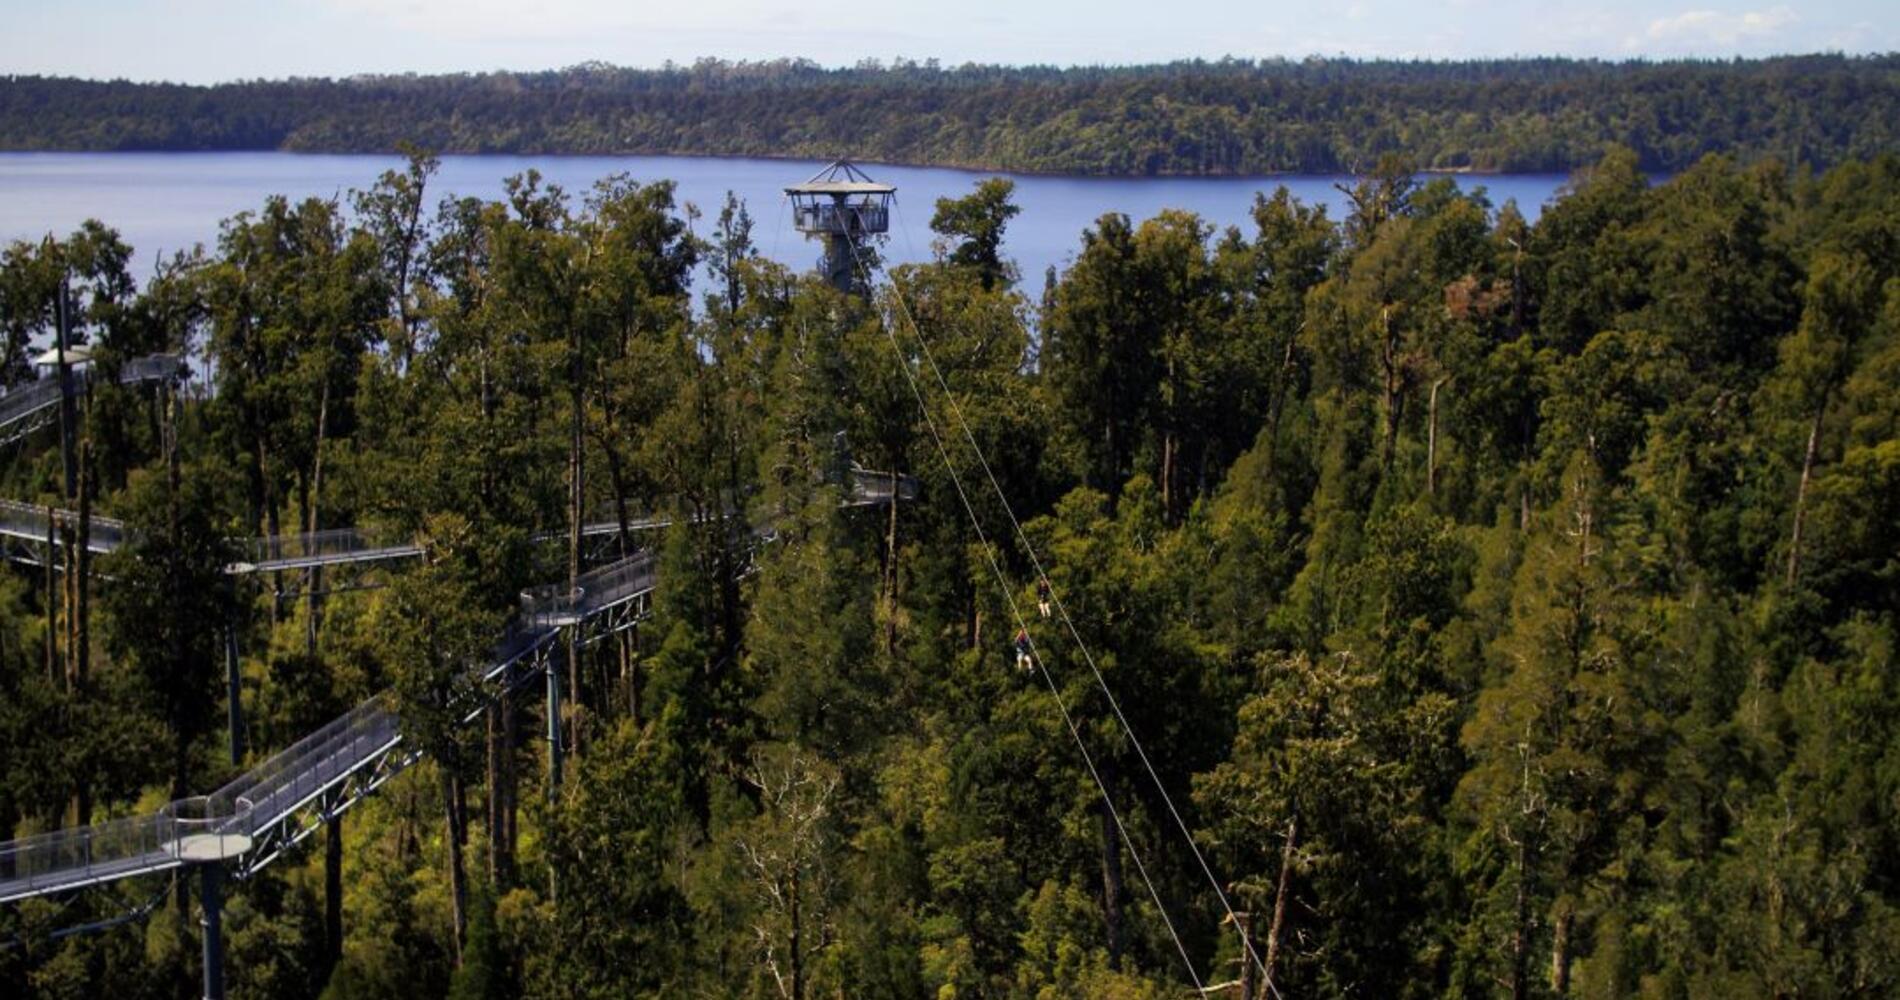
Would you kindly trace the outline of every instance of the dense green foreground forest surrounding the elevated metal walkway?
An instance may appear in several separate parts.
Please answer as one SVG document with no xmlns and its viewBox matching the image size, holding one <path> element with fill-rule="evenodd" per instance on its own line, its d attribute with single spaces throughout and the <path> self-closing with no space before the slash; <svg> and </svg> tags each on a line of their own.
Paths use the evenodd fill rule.
<svg viewBox="0 0 1900 1000">
<path fill-rule="evenodd" d="M 1343 219 L 1106 215 L 1047 279 L 982 181 L 864 297 L 743 205 L 437 203 L 428 158 L 137 279 L 103 224 L 15 243 L 8 380 L 66 272 L 101 365 L 209 384 L 93 388 L 137 542 L 0 576 L 0 831 L 234 774 L 238 601 L 251 760 L 386 686 L 428 753 L 232 886 L 236 996 L 1239 996 L 1220 895 L 1256 996 L 1892 996 L 1900 158 L 1640 167 L 1528 224 L 1387 160 Z M 842 508 L 840 445 L 918 498 Z M 6 462 L 63 502 L 51 432 Z M 770 540 L 618 538 L 665 576 L 562 662 L 559 791 L 534 688 L 443 711 L 560 578 L 538 532 L 732 498 Z M 224 584 L 222 538 L 338 525 L 426 557 Z M 188 996 L 198 933 L 163 884 L 6 905 L 0 992 Z"/>
</svg>

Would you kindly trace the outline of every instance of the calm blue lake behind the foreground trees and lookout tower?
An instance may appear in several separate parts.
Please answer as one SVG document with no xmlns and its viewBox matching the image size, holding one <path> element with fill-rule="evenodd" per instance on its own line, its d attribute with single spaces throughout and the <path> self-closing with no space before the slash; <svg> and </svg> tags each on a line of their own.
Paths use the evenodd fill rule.
<svg viewBox="0 0 1900 1000">
<path fill-rule="evenodd" d="M 218 222 L 256 209 L 270 194 L 293 200 L 348 196 L 401 165 L 395 156 L 327 156 L 291 152 L 0 152 L 0 241 L 65 236 L 86 219 L 120 230 L 135 251 L 133 274 L 150 274 L 160 255 L 192 243 L 217 245 Z M 500 198 L 502 179 L 540 169 L 542 175 L 581 196 L 595 181 L 629 173 L 640 181 L 678 183 L 678 200 L 697 205 L 711 228 L 732 190 L 756 219 L 752 240 L 760 251 L 796 268 L 817 260 L 817 247 L 790 226 L 783 188 L 804 181 L 825 163 L 809 160 L 718 160 L 697 156 L 445 156 L 431 181 L 431 198 Z M 891 219 L 891 262 L 920 260 L 931 253 L 929 221 L 937 198 L 961 196 L 982 177 L 940 167 L 866 165 L 878 181 L 897 184 Z M 1241 226 L 1252 234 L 1248 209 L 1256 192 L 1284 184 L 1300 200 L 1324 203 L 1334 219 L 1345 198 L 1334 186 L 1345 177 L 1043 177 L 1005 175 L 1016 181 L 1022 205 L 1009 224 L 1005 253 L 1024 274 L 1024 287 L 1039 289 L 1047 266 L 1066 266 L 1081 243 L 1083 228 L 1102 213 L 1121 211 L 1140 221 L 1161 209 L 1188 209 L 1216 226 Z M 1459 186 L 1484 188 L 1501 205 L 1516 200 L 1535 219 L 1566 181 L 1562 175 L 1459 175 Z"/>
</svg>

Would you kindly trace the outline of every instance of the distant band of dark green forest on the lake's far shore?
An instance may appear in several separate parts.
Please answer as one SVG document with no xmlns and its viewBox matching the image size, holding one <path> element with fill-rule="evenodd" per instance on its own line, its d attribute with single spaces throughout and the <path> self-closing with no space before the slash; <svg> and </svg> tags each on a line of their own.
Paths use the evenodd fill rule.
<svg viewBox="0 0 1900 1000">
<path fill-rule="evenodd" d="M 806 61 L 220 86 L 0 78 L 8 150 L 804 156 L 1102 175 L 1826 167 L 1900 144 L 1900 57 L 1600 63 Z"/>
</svg>

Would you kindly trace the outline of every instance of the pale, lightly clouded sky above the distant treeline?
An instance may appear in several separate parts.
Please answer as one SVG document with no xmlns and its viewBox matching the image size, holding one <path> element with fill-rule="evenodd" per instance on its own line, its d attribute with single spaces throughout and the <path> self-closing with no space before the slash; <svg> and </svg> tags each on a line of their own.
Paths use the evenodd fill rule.
<svg viewBox="0 0 1900 1000">
<path fill-rule="evenodd" d="M 215 84 L 699 57 L 1155 63 L 1900 51 L 1900 0 L 0 0 L 0 74 Z"/>
</svg>

